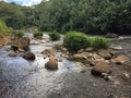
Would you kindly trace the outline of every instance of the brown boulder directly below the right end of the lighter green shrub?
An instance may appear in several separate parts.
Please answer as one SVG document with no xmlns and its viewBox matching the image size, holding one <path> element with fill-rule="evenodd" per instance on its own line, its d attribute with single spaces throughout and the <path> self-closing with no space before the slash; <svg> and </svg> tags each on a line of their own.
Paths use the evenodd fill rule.
<svg viewBox="0 0 131 98">
<path fill-rule="evenodd" d="M 111 59 L 111 54 L 108 50 L 105 50 L 105 49 L 100 49 L 98 50 L 98 54 L 104 58 L 105 60 L 109 60 Z"/>
</svg>

